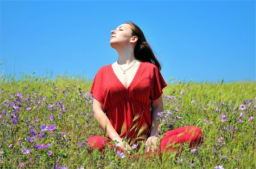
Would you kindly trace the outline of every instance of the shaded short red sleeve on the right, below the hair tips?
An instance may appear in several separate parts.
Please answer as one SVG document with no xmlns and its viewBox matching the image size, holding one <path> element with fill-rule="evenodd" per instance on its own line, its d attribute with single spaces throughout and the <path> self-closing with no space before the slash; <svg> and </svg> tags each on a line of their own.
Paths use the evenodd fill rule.
<svg viewBox="0 0 256 169">
<path fill-rule="evenodd" d="M 151 76 L 150 99 L 158 99 L 163 94 L 163 88 L 166 86 L 167 84 L 164 81 L 162 74 L 160 73 L 160 70 L 158 69 L 158 67 L 154 66 Z"/>
</svg>

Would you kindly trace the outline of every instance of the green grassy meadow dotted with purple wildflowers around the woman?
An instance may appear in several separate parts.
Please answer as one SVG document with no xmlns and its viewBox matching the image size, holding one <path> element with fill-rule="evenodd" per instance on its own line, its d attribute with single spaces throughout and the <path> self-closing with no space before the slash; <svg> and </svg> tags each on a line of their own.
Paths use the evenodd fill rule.
<svg viewBox="0 0 256 169">
<path fill-rule="evenodd" d="M 159 132 L 202 129 L 204 142 L 178 153 L 90 151 L 102 136 L 92 112 L 92 81 L 61 75 L 0 78 L 0 168 L 256 168 L 256 82 L 173 82 L 163 90 Z"/>
</svg>

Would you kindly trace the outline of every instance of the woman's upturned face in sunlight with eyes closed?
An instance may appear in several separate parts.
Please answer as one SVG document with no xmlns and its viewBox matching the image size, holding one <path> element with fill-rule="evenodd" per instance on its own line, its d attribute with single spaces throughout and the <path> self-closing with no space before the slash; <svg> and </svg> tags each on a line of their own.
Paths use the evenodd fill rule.
<svg viewBox="0 0 256 169">
<path fill-rule="evenodd" d="M 133 31 L 131 30 L 130 24 L 121 24 L 115 30 L 111 31 L 110 45 L 114 48 L 131 43 L 133 39 Z"/>
</svg>

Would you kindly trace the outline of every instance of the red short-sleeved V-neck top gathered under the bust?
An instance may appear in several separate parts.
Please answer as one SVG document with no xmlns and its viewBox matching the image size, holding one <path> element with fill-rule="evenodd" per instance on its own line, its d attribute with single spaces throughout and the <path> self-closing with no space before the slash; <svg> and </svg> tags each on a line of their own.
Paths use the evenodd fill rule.
<svg viewBox="0 0 256 169">
<path fill-rule="evenodd" d="M 166 86 L 158 67 L 141 61 L 127 89 L 109 64 L 98 70 L 90 93 L 103 105 L 103 111 L 120 137 L 138 138 L 148 136 L 151 100 L 158 99 Z"/>
</svg>

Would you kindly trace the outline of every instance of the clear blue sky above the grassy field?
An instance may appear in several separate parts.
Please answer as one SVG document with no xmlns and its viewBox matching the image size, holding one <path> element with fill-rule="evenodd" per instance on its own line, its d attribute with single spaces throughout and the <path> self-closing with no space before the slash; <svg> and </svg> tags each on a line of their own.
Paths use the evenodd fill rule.
<svg viewBox="0 0 256 169">
<path fill-rule="evenodd" d="M 85 75 L 117 60 L 110 31 L 132 21 L 167 83 L 256 80 L 255 1 L 1 1 L 0 75 Z M 172 81 L 171 81 L 172 82 Z"/>
</svg>

